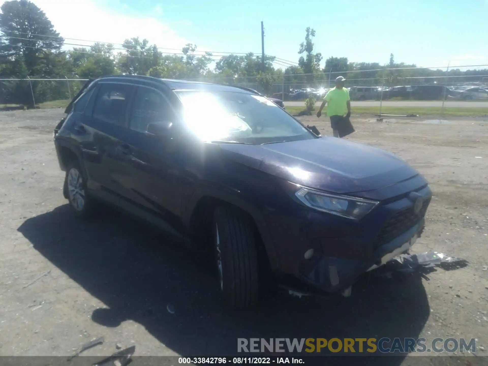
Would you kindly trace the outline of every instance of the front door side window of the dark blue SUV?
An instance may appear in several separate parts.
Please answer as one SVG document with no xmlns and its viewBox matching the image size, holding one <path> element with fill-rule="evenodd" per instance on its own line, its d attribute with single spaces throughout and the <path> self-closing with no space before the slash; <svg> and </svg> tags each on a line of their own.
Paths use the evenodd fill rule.
<svg viewBox="0 0 488 366">
<path fill-rule="evenodd" d="M 149 123 L 174 122 L 173 111 L 163 95 L 150 88 L 138 87 L 129 128 L 138 132 L 146 132 Z"/>
</svg>

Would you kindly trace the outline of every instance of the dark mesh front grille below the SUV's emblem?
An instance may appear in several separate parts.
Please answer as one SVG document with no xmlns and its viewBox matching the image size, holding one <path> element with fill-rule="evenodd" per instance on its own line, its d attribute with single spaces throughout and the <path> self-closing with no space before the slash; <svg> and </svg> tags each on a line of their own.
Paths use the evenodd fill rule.
<svg viewBox="0 0 488 366">
<path fill-rule="evenodd" d="M 376 240 L 377 245 L 382 245 L 389 242 L 390 240 L 406 232 L 413 225 L 417 224 L 425 216 L 429 203 L 430 198 L 424 201 L 424 204 L 422 205 L 422 208 L 418 214 L 413 212 L 413 207 L 408 207 L 393 214 L 393 216 L 386 221 L 378 234 Z"/>
</svg>

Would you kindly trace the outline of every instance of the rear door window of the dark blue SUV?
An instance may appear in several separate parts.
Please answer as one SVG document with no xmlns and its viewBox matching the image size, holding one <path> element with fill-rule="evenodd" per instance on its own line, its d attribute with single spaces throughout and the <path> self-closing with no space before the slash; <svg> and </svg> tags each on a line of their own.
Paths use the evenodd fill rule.
<svg viewBox="0 0 488 366">
<path fill-rule="evenodd" d="M 101 83 L 93 108 L 93 117 L 123 126 L 131 86 L 115 83 Z"/>
</svg>

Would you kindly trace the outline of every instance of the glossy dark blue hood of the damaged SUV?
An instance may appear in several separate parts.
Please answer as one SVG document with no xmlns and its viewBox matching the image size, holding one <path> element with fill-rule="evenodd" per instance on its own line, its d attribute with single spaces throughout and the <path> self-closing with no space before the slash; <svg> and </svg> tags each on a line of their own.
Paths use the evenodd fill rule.
<svg viewBox="0 0 488 366">
<path fill-rule="evenodd" d="M 378 189 L 419 173 L 394 154 L 334 137 L 265 145 L 221 144 L 236 163 L 335 193 Z"/>
</svg>

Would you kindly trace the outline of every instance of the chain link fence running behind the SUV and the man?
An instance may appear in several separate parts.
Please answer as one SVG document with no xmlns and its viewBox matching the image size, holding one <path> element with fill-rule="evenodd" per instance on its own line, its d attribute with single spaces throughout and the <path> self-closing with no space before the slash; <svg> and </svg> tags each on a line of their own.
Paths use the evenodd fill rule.
<svg viewBox="0 0 488 366">
<path fill-rule="evenodd" d="M 488 102 L 488 72 L 470 68 L 488 65 L 456 66 L 455 69 L 389 68 L 337 71 L 297 75 L 264 75 L 253 77 L 202 77 L 195 81 L 242 86 L 284 101 L 305 101 L 309 96 L 323 98 L 334 86 L 337 76 L 346 78 L 353 101 L 477 100 Z M 466 69 L 461 71 L 460 68 Z M 0 108 L 65 107 L 87 79 L 59 78 L 0 79 Z M 479 92 L 466 93 L 468 88 Z M 473 89 L 474 90 L 474 89 Z M 304 104 L 305 105 L 305 104 Z M 488 114 L 488 111 L 487 111 Z"/>
</svg>

